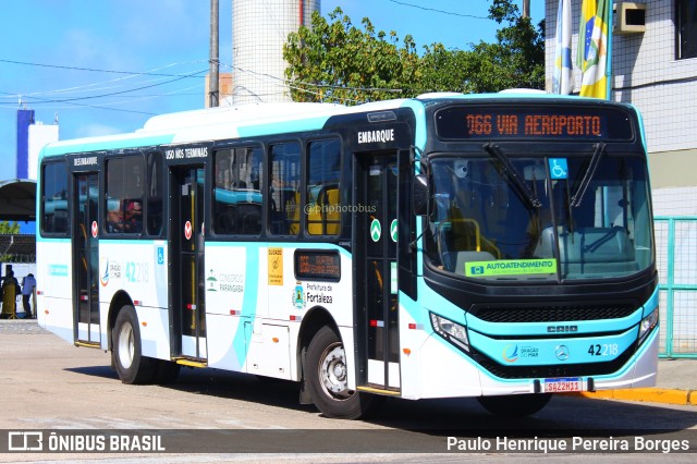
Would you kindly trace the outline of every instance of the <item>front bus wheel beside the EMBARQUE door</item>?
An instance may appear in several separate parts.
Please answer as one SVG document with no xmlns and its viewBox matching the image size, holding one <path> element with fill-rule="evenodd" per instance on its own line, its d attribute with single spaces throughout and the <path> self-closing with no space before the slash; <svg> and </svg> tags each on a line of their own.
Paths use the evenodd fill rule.
<svg viewBox="0 0 697 464">
<path fill-rule="evenodd" d="M 357 419 L 372 402 L 370 394 L 348 390 L 344 345 L 327 326 L 309 342 L 304 371 L 313 403 L 327 417 Z"/>
</svg>

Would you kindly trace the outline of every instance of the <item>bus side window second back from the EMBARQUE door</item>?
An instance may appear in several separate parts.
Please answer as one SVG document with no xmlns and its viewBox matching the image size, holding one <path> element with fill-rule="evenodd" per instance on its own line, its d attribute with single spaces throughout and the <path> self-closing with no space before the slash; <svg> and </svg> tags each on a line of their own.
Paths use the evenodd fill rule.
<svg viewBox="0 0 697 464">
<path fill-rule="evenodd" d="M 301 146 L 296 142 L 272 145 L 270 158 L 269 224 L 271 233 L 297 235 L 301 220 Z"/>
</svg>

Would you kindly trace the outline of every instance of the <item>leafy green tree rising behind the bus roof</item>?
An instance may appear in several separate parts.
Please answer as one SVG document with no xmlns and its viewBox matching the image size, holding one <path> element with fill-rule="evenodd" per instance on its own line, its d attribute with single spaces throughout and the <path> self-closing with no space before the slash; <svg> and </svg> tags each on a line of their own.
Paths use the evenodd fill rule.
<svg viewBox="0 0 697 464">
<path fill-rule="evenodd" d="M 289 36 L 283 57 L 295 101 L 355 103 L 414 97 L 427 91 L 484 93 L 543 88 L 545 25 L 521 17 L 511 0 L 492 0 L 489 17 L 505 24 L 497 42 L 448 50 L 436 42 L 419 56 L 412 36 L 377 32 L 367 17 L 355 27 L 341 9 L 318 13 L 311 28 Z"/>
</svg>

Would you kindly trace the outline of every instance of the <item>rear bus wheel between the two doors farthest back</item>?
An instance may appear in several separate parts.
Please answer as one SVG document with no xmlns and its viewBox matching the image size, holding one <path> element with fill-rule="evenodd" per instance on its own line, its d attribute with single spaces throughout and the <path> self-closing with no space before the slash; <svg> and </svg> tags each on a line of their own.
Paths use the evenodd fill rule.
<svg viewBox="0 0 697 464">
<path fill-rule="evenodd" d="M 133 306 L 124 306 L 112 331 L 111 356 L 123 383 L 149 383 L 155 376 L 155 359 L 143 356 L 140 329 Z"/>
</svg>

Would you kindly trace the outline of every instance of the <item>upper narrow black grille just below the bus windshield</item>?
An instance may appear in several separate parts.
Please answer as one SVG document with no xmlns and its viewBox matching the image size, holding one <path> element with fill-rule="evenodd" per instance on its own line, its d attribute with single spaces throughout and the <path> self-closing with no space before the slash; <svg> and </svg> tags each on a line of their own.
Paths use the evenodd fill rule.
<svg viewBox="0 0 697 464">
<path fill-rule="evenodd" d="M 474 305 L 469 313 L 487 322 L 561 322 L 573 320 L 620 319 L 638 307 L 629 304 L 548 305 L 528 307 L 491 307 Z"/>
</svg>

